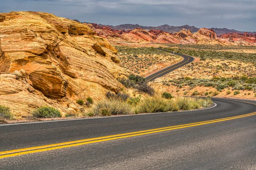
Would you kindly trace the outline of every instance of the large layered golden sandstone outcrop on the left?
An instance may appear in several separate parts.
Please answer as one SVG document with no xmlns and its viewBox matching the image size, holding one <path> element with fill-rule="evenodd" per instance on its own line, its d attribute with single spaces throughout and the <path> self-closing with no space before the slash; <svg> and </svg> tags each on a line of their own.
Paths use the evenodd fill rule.
<svg viewBox="0 0 256 170">
<path fill-rule="evenodd" d="M 117 50 L 87 25 L 41 12 L 0 14 L 0 105 L 28 116 L 49 105 L 67 113 L 76 99 L 119 91 L 128 75 Z"/>
</svg>

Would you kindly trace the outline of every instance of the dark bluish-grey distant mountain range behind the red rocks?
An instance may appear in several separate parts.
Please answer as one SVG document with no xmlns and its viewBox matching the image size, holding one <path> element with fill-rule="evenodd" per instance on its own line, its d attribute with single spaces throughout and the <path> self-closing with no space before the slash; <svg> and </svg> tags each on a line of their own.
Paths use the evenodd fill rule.
<svg viewBox="0 0 256 170">
<path fill-rule="evenodd" d="M 99 24 L 99 26 L 108 26 L 108 25 L 102 25 Z M 150 30 L 150 29 L 154 29 L 154 30 L 162 30 L 162 31 L 166 31 L 169 33 L 175 33 L 175 32 L 179 32 L 182 28 L 186 28 L 187 30 L 191 30 L 192 33 L 197 32 L 200 28 L 196 28 L 195 26 L 169 26 L 169 25 L 163 25 L 163 26 L 140 26 L 138 24 L 122 24 L 119 26 L 109 26 L 113 29 L 116 30 L 134 30 L 135 28 L 142 28 L 145 30 Z M 244 34 L 244 32 L 246 31 L 237 31 L 234 29 L 227 29 L 227 28 L 211 28 L 217 35 L 221 35 L 221 34 L 227 34 L 227 33 L 240 33 L 240 34 Z M 249 34 L 256 34 L 256 32 L 247 32 Z"/>
</svg>

